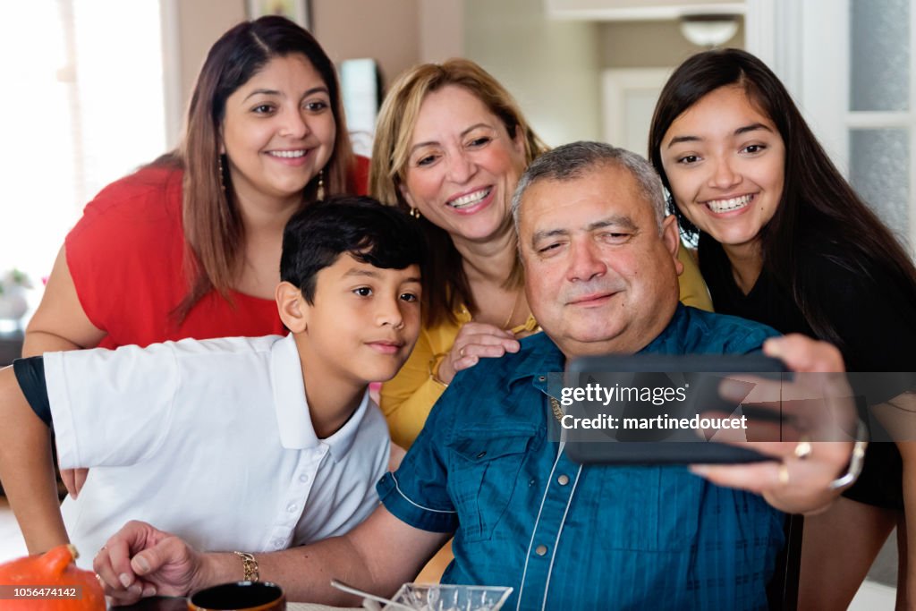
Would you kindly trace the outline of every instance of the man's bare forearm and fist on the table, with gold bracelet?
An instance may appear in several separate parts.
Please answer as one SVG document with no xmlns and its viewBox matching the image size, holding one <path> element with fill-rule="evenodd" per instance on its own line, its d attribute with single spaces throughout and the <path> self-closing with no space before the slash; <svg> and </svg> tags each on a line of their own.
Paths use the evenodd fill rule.
<svg viewBox="0 0 916 611">
<path fill-rule="evenodd" d="M 286 551 L 256 553 L 261 581 L 280 584 L 290 601 L 359 605 L 330 587 L 332 579 L 379 595 L 393 595 L 412 580 L 449 535 L 415 529 L 384 506 L 341 537 Z M 242 562 L 234 553 L 201 553 L 144 522 L 129 522 L 95 557 L 93 568 L 114 604 L 141 596 L 186 595 L 237 581 Z"/>
</svg>

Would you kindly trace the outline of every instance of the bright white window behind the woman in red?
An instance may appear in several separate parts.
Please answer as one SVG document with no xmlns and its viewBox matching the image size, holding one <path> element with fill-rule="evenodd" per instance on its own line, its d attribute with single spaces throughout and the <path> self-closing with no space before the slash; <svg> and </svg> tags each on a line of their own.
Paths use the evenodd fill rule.
<svg viewBox="0 0 916 611">
<path fill-rule="evenodd" d="M 5 12 L 0 273 L 40 284 L 95 193 L 166 150 L 160 6 L 31 0 Z"/>
</svg>

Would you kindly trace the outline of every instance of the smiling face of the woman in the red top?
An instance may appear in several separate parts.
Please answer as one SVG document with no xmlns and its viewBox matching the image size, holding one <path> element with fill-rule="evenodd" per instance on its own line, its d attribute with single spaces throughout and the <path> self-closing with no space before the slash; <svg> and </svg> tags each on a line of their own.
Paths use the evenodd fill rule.
<svg viewBox="0 0 916 611">
<path fill-rule="evenodd" d="M 298 205 L 331 158 L 327 83 L 304 56 L 275 57 L 226 100 L 222 147 L 241 202 Z"/>
</svg>

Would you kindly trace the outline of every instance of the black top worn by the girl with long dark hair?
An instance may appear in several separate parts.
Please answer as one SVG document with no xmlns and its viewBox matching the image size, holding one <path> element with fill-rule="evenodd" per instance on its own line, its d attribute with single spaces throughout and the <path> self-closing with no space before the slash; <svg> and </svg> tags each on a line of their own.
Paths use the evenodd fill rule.
<svg viewBox="0 0 916 611">
<path fill-rule="evenodd" d="M 702 267 L 715 311 L 769 324 L 780 333 L 804 333 L 836 344 L 847 371 L 916 372 L 916 302 L 886 267 L 869 260 L 851 261 L 826 241 L 814 240 L 799 249 L 800 281 L 822 296 L 813 305 L 833 322 L 838 338 L 830 338 L 812 329 L 790 290 L 766 270 L 745 295 L 717 246 L 705 251 L 711 256 Z M 705 255 L 700 256 L 702 260 Z M 868 420 L 873 440 L 890 438 L 877 420 Z M 844 495 L 901 510 L 902 464 L 897 446 L 870 444 L 862 474 Z"/>
</svg>

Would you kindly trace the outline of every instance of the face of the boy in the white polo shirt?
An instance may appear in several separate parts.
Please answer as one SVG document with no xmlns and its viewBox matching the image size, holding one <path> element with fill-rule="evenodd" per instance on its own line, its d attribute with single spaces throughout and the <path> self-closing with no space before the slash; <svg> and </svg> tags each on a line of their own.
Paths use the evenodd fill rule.
<svg viewBox="0 0 916 611">
<path fill-rule="evenodd" d="M 297 304 L 297 344 L 311 374 L 354 387 L 391 379 L 420 334 L 420 268 L 385 269 L 345 254 L 315 278 L 312 303 Z"/>
</svg>

